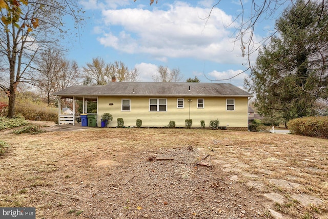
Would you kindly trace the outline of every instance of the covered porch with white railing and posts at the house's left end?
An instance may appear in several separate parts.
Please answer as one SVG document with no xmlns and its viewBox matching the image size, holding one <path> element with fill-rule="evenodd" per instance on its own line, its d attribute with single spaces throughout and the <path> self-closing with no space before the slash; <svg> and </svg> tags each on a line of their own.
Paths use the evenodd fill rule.
<svg viewBox="0 0 328 219">
<path fill-rule="evenodd" d="M 58 125 L 80 125 L 80 114 L 88 114 L 88 103 L 96 103 L 96 114 L 98 114 L 98 98 L 94 96 L 58 96 Z M 64 113 L 62 100 L 72 99 L 72 113 Z M 82 111 L 77 110 L 76 101 L 81 101 Z"/>
</svg>

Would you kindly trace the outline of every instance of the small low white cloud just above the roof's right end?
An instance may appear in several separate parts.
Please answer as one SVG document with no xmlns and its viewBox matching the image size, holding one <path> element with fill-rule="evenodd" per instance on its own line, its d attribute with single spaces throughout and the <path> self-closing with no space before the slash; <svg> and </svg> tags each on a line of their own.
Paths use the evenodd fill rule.
<svg viewBox="0 0 328 219">
<path fill-rule="evenodd" d="M 249 75 L 242 70 L 212 71 L 208 73 L 210 79 L 219 80 L 220 83 L 231 83 L 240 88 L 243 87 L 244 78 Z M 229 79 L 230 78 L 230 79 Z"/>
</svg>

